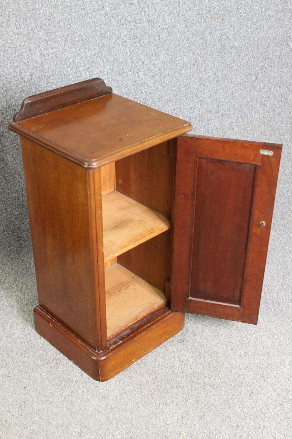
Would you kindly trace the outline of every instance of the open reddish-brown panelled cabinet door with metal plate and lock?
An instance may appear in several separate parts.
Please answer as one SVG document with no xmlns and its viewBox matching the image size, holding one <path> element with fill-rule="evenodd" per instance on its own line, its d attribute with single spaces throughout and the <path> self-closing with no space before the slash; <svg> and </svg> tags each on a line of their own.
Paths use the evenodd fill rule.
<svg viewBox="0 0 292 439">
<path fill-rule="evenodd" d="M 257 324 L 281 146 L 178 137 L 172 310 Z"/>
</svg>

